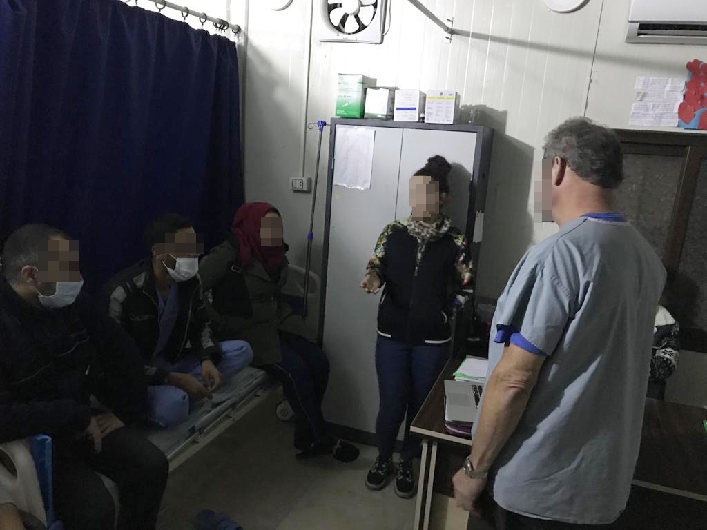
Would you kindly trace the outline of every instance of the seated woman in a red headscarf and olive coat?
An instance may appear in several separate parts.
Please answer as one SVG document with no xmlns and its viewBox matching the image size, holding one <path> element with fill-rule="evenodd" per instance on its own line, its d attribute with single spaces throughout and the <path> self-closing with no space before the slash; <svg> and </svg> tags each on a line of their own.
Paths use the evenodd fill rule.
<svg viewBox="0 0 707 530">
<path fill-rule="evenodd" d="M 329 435 L 322 416 L 329 361 L 281 294 L 288 261 L 279 211 L 269 203 L 244 204 L 230 232 L 199 265 L 204 292 L 211 291 L 218 340 L 248 341 L 253 364 L 282 382 L 296 415 L 299 457 L 331 453 L 354 461 L 358 449 Z"/>
</svg>

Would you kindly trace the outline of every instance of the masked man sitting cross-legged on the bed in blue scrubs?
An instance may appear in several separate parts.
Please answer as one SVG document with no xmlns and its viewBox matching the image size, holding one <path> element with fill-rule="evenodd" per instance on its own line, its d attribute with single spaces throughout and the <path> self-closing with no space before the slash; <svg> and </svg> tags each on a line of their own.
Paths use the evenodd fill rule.
<svg viewBox="0 0 707 530">
<path fill-rule="evenodd" d="M 192 223 L 168 213 L 145 232 L 151 254 L 107 285 L 108 312 L 138 344 L 148 382 L 148 420 L 170 427 L 189 415 L 189 401 L 211 398 L 252 361 L 244 341 L 214 343 L 199 269 L 201 244 Z"/>
</svg>

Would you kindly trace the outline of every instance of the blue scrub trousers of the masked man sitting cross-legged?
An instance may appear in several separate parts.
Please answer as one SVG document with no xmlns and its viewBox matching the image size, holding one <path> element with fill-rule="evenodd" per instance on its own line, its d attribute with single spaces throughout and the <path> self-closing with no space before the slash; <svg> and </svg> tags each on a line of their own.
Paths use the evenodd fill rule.
<svg viewBox="0 0 707 530">
<path fill-rule="evenodd" d="M 221 362 L 216 365 L 221 372 L 222 382 L 236 375 L 253 360 L 253 351 L 250 344 L 245 341 L 224 341 L 218 345 L 221 348 Z M 163 358 L 153 360 L 153 365 L 168 370 L 180 372 L 201 379 L 201 363 L 194 355 L 187 355 L 170 364 Z M 162 384 L 147 389 L 147 418 L 150 423 L 158 427 L 172 427 L 187 419 L 189 416 L 189 396 L 182 389 L 171 384 Z"/>
</svg>

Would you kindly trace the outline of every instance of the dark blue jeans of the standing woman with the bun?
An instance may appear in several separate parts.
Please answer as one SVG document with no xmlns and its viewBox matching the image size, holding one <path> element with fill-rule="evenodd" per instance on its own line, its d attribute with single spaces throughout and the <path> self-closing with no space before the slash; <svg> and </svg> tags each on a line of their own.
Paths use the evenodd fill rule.
<svg viewBox="0 0 707 530">
<path fill-rule="evenodd" d="M 409 461 L 420 454 L 420 442 L 410 435 L 410 425 L 449 360 L 449 343 L 409 346 L 378 337 L 375 370 L 378 373 L 380 406 L 375 420 L 378 452 L 392 457 L 395 440 L 407 416 L 400 459 Z"/>
</svg>

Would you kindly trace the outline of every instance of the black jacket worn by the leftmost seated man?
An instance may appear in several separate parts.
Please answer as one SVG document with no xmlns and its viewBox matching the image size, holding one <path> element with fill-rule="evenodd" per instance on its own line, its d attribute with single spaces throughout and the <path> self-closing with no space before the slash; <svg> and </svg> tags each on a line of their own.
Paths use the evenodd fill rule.
<svg viewBox="0 0 707 530">
<path fill-rule="evenodd" d="M 49 310 L 0 278 L 0 442 L 73 437 L 88 427 L 91 395 L 132 423 L 146 392 L 134 341 L 85 294 Z"/>
</svg>

